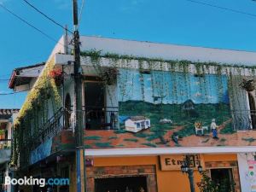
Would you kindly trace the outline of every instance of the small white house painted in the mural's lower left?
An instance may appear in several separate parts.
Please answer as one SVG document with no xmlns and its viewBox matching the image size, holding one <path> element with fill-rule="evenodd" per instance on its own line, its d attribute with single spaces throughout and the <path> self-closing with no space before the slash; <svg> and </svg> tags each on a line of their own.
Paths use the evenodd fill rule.
<svg viewBox="0 0 256 192">
<path fill-rule="evenodd" d="M 144 116 L 131 116 L 125 119 L 125 131 L 138 132 L 150 128 L 150 119 Z"/>
</svg>

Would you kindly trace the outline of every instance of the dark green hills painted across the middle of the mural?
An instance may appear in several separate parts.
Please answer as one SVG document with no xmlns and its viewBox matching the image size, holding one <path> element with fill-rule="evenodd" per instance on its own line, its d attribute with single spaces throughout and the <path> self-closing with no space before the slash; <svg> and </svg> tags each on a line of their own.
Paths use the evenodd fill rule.
<svg viewBox="0 0 256 192">
<path fill-rule="evenodd" d="M 218 125 L 228 121 L 230 106 L 225 103 L 195 104 L 188 100 L 183 104 L 153 104 L 150 102 L 127 101 L 119 102 L 120 129 L 125 129 L 125 119 L 131 116 L 144 116 L 151 121 L 150 131 L 154 137 L 162 137 L 168 130 L 182 126 L 177 131 L 179 137 L 188 137 L 195 134 L 194 124 L 200 121 L 203 126 L 210 127 L 212 119 Z M 162 123 L 161 119 L 170 119 L 172 123 Z M 232 132 L 231 124 L 227 125 L 225 132 Z M 206 131 L 207 132 L 207 131 Z M 208 130 L 209 132 L 209 130 Z"/>
</svg>

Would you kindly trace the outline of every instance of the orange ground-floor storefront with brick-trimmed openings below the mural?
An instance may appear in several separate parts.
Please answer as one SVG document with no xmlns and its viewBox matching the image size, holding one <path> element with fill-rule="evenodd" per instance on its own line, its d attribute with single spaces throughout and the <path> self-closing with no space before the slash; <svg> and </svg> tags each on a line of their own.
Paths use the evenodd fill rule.
<svg viewBox="0 0 256 192">
<path fill-rule="evenodd" d="M 86 169 L 87 191 L 95 192 L 188 192 L 189 177 L 180 171 L 183 155 L 170 154 L 159 156 L 136 157 L 102 157 L 91 158 L 93 166 Z M 203 169 L 218 182 L 226 179 L 228 183 L 236 183 L 231 191 L 240 192 L 240 180 L 236 154 L 201 154 Z M 199 192 L 196 183 L 201 181 L 201 174 L 195 165 L 195 190 Z"/>
</svg>

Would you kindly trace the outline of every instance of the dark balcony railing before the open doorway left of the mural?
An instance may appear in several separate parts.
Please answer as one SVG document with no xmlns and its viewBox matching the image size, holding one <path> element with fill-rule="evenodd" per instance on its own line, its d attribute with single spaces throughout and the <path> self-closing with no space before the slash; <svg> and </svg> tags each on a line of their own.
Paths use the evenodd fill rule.
<svg viewBox="0 0 256 192">
<path fill-rule="evenodd" d="M 83 125 L 87 130 L 115 130 L 118 125 L 117 107 L 90 107 L 83 110 Z"/>
</svg>

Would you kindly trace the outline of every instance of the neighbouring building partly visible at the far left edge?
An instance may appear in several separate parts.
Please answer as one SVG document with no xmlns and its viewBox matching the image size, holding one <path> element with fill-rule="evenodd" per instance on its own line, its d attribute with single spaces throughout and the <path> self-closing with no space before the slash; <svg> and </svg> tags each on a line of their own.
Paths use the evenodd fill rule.
<svg viewBox="0 0 256 192">
<path fill-rule="evenodd" d="M 0 191 L 10 192 L 10 187 L 5 186 L 4 177 L 11 174 L 9 161 L 11 156 L 13 119 L 19 109 L 0 109 Z"/>
</svg>

